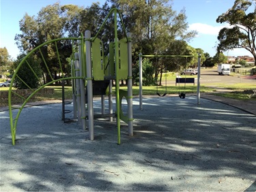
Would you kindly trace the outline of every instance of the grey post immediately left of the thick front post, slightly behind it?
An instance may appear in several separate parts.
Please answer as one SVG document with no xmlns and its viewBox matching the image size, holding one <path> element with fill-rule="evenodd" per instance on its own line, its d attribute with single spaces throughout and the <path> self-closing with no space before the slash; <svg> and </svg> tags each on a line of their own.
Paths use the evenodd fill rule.
<svg viewBox="0 0 256 192">
<path fill-rule="evenodd" d="M 83 45 L 83 44 L 81 44 Z M 79 75 L 81 77 L 85 77 L 85 74 L 83 73 L 83 64 L 85 61 L 83 61 L 83 48 L 82 46 L 79 46 Z M 86 114 L 85 114 L 85 79 L 80 79 L 80 98 L 81 98 L 81 122 L 82 122 L 82 127 L 85 130 L 86 129 L 86 122 L 85 122 L 85 118 L 86 118 Z"/>
</svg>

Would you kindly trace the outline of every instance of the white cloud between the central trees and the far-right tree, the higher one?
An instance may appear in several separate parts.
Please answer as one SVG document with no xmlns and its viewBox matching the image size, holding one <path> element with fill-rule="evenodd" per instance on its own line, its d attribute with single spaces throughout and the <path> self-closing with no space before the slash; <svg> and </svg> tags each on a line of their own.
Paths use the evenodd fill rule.
<svg viewBox="0 0 256 192">
<path fill-rule="evenodd" d="M 212 26 L 204 23 L 193 23 L 190 24 L 188 30 L 195 30 L 199 34 L 205 35 L 218 35 L 218 32 L 223 29 L 223 27 L 228 27 L 229 25 L 221 25 L 221 26 Z"/>
</svg>

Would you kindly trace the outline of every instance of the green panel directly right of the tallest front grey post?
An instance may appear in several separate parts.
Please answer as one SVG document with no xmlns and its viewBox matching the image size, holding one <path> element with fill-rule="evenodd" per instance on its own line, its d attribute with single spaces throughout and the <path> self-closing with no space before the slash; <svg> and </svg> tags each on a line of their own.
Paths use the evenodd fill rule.
<svg viewBox="0 0 256 192">
<path fill-rule="evenodd" d="M 100 39 L 96 38 L 92 42 L 91 48 L 92 58 L 92 75 L 94 80 L 104 80 L 104 54 L 103 45 Z"/>
</svg>

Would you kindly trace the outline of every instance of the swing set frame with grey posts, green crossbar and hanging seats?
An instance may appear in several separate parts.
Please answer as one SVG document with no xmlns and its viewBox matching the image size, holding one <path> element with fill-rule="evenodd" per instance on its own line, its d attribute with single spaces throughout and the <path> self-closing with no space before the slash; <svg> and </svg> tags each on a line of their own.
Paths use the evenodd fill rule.
<svg viewBox="0 0 256 192">
<path fill-rule="evenodd" d="M 143 57 L 197 57 L 198 58 L 198 73 L 197 73 L 197 105 L 200 104 L 200 65 L 201 65 L 201 55 L 197 54 L 197 55 L 165 55 L 165 54 L 139 54 L 139 108 L 140 110 L 143 110 L 143 88 L 142 88 L 142 60 Z M 167 88 L 166 88 L 166 92 L 167 92 Z M 159 93 L 157 93 L 159 94 Z M 160 97 L 164 97 L 167 93 L 165 93 L 164 95 L 160 95 Z M 180 94 L 179 94 L 180 96 Z M 181 95 L 182 97 L 184 97 L 184 95 Z M 181 97 L 180 96 L 180 97 Z M 181 97 L 181 98 L 182 98 Z M 185 98 L 185 97 L 184 97 Z M 184 99 L 182 98 L 182 99 Z"/>
</svg>

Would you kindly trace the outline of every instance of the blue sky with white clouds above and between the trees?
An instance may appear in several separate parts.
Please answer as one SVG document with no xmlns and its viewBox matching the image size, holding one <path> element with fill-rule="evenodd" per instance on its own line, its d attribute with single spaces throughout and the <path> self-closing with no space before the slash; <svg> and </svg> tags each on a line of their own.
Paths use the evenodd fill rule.
<svg viewBox="0 0 256 192">
<path fill-rule="evenodd" d="M 74 4 L 79 6 L 89 6 L 94 0 L 0 0 L 1 22 L 0 22 L 0 47 L 6 47 L 12 58 L 16 58 L 19 50 L 15 44 L 14 37 L 19 31 L 19 20 L 25 13 L 29 16 L 37 16 L 42 7 L 59 2 L 61 5 Z M 180 12 L 186 10 L 189 29 L 197 30 L 198 35 L 188 44 L 194 48 L 201 48 L 212 57 L 216 54 L 218 31 L 225 27 L 224 24 L 216 23 L 219 15 L 227 12 L 232 7 L 235 0 L 173 0 L 173 10 Z M 98 0 L 104 3 L 105 0 Z M 252 56 L 244 49 L 235 49 L 225 52 L 228 56 Z"/>
</svg>

